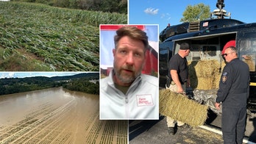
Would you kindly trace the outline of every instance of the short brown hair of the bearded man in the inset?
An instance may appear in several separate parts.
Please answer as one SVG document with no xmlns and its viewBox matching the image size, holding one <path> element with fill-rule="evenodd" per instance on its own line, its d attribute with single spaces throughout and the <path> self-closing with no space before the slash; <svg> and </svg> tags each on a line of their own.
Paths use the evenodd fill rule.
<svg viewBox="0 0 256 144">
<path fill-rule="evenodd" d="M 121 37 L 124 36 L 128 36 L 135 40 L 141 40 L 143 42 L 145 51 L 147 48 L 149 48 L 149 41 L 148 36 L 146 36 L 146 32 L 143 32 L 143 30 L 138 29 L 135 26 L 123 26 L 116 31 L 116 35 L 114 37 L 115 48 L 117 47 Z"/>
</svg>

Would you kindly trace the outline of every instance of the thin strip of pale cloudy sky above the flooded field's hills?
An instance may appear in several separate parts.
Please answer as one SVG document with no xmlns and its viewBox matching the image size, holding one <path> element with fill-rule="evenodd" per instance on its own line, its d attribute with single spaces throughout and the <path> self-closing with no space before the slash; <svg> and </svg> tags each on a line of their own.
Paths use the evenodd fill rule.
<svg viewBox="0 0 256 144">
<path fill-rule="evenodd" d="M 72 76 L 82 72 L 0 72 L 0 79 L 4 78 L 24 78 L 32 76 Z"/>
</svg>

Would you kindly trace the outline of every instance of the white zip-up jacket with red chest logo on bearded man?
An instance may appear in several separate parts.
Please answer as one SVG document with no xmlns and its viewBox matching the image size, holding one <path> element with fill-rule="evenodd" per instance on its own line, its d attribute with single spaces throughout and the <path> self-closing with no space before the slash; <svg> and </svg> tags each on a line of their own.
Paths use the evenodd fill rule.
<svg viewBox="0 0 256 144">
<path fill-rule="evenodd" d="M 100 82 L 100 119 L 131 120 L 159 119 L 158 79 L 141 74 L 131 84 L 127 93 L 115 88 L 113 71 Z"/>
</svg>

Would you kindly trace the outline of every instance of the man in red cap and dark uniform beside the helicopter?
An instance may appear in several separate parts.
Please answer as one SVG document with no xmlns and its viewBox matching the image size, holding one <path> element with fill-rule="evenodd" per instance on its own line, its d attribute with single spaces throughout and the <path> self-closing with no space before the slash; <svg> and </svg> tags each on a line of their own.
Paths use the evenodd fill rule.
<svg viewBox="0 0 256 144">
<path fill-rule="evenodd" d="M 222 50 L 227 62 L 221 74 L 216 109 L 222 105 L 221 130 L 224 144 L 243 143 L 246 128 L 246 106 L 249 96 L 249 66 L 238 59 L 235 40 Z"/>
</svg>

